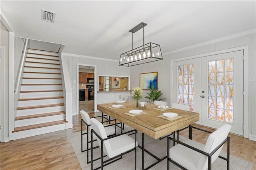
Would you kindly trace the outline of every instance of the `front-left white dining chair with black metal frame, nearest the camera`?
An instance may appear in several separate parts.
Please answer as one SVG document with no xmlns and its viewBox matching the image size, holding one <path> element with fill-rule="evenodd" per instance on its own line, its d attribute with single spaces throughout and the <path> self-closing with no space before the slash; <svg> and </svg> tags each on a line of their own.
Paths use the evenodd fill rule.
<svg viewBox="0 0 256 170">
<path fill-rule="evenodd" d="M 91 118 L 91 123 L 93 128 L 91 133 L 97 136 L 97 142 L 101 148 L 101 166 L 98 168 L 103 170 L 104 166 L 121 159 L 122 155 L 134 150 L 134 166 L 136 169 L 136 147 L 138 146 L 136 141 L 137 130 L 134 129 L 122 134 L 107 137 L 106 131 L 99 121 L 97 121 L 95 118 Z M 134 133 L 134 139 L 128 136 L 128 133 Z M 93 142 L 91 142 L 91 147 L 92 146 Z M 104 160 L 106 164 L 103 162 L 103 153 L 105 153 L 109 158 L 108 160 Z M 91 159 L 93 160 L 93 149 L 91 150 Z M 93 170 L 93 161 L 91 162 L 91 169 Z"/>
</svg>

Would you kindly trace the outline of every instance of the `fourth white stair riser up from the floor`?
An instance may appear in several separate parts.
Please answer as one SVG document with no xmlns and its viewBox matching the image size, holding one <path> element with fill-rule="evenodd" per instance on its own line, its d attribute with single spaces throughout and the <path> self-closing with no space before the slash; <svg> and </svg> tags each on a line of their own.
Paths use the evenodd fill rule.
<svg viewBox="0 0 256 170">
<path fill-rule="evenodd" d="M 19 101 L 19 107 L 25 106 L 38 106 L 38 105 L 51 105 L 51 104 L 58 104 L 63 103 L 63 99 L 44 99 L 44 100 L 26 100 L 26 101 Z"/>
</svg>

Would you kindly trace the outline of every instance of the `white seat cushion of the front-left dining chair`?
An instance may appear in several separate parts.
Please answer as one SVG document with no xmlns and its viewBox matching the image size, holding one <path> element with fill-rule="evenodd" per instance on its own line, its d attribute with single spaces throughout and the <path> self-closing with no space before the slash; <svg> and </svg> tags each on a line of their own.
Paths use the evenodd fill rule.
<svg viewBox="0 0 256 170">
<path fill-rule="evenodd" d="M 108 155 L 109 158 L 112 158 L 116 155 L 119 155 L 123 152 L 126 152 L 127 150 L 134 148 L 134 138 L 131 138 L 126 134 L 111 138 L 108 141 L 112 149 L 111 155 Z M 138 146 L 137 142 L 136 146 Z"/>
</svg>

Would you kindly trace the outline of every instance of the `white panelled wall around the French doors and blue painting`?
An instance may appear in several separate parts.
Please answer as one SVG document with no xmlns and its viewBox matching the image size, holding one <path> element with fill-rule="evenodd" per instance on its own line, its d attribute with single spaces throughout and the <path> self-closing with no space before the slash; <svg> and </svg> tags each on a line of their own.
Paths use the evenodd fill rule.
<svg viewBox="0 0 256 170">
<path fill-rule="evenodd" d="M 220 51 L 224 49 L 230 49 L 234 47 L 240 47 L 248 45 L 249 47 L 249 80 L 250 76 L 256 76 L 256 34 L 248 34 L 243 36 L 233 35 L 229 38 L 222 38 L 220 41 L 216 40 L 214 43 L 205 43 L 205 45 L 198 45 L 186 50 L 170 51 L 169 54 L 163 56 L 162 61 L 156 61 L 143 65 L 134 66 L 131 69 L 131 87 L 139 86 L 139 75 L 140 73 L 158 71 L 158 88 L 164 93 L 162 97 L 168 98 L 170 101 L 170 60 L 180 59 L 184 57 L 209 53 L 213 51 Z M 172 40 L 170 40 L 172 41 Z M 246 87 L 245 87 L 246 88 Z M 256 138 L 256 82 L 249 82 L 249 138 Z"/>
</svg>

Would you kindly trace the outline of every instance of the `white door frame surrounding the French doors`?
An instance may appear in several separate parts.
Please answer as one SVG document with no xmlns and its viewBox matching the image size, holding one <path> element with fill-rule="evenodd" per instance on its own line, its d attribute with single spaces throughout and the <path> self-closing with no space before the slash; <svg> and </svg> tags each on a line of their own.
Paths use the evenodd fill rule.
<svg viewBox="0 0 256 170">
<path fill-rule="evenodd" d="M 234 48 L 230 48 L 230 49 L 224 49 L 224 50 L 220 50 L 220 51 L 214 51 L 214 52 L 210 52 L 210 53 L 204 53 L 204 54 L 199 54 L 199 55 L 193 55 L 190 57 L 184 57 L 184 58 L 180 58 L 180 59 L 171 59 L 170 60 L 170 103 L 172 103 L 172 67 L 173 67 L 173 63 L 176 61 L 183 61 L 183 60 L 187 60 L 187 59 L 194 59 L 194 58 L 200 58 L 200 57 L 207 57 L 210 55 L 216 55 L 216 54 L 222 54 L 222 53 L 229 53 L 229 52 L 234 52 L 234 51 L 244 51 L 244 96 L 243 96 L 243 100 L 244 100 L 244 105 L 243 105 L 243 136 L 244 138 L 248 138 L 248 129 L 249 129 L 249 115 L 251 114 L 251 110 L 249 109 L 250 106 L 250 100 L 249 98 L 251 97 L 251 94 L 249 93 L 249 89 L 250 89 L 250 83 L 249 83 L 249 47 L 248 45 L 244 45 L 244 46 L 240 46 L 240 47 L 234 47 Z M 251 125 L 251 124 L 250 124 Z"/>
</svg>

